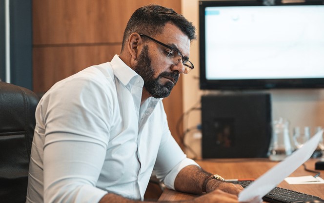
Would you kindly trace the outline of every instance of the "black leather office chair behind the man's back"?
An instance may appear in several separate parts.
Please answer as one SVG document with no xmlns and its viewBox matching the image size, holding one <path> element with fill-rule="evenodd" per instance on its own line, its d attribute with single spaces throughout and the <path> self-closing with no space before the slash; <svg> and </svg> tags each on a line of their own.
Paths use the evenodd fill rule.
<svg viewBox="0 0 324 203">
<path fill-rule="evenodd" d="M 39 98 L 0 81 L 0 202 L 25 203 L 28 167 Z"/>
</svg>

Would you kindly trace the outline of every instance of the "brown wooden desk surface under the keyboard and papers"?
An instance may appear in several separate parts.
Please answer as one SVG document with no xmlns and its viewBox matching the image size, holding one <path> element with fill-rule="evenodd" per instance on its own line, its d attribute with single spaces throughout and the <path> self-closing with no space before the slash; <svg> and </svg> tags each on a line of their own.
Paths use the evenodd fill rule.
<svg viewBox="0 0 324 203">
<path fill-rule="evenodd" d="M 305 164 L 307 169 L 315 170 L 315 162 L 318 160 L 310 159 Z M 196 161 L 202 168 L 210 173 L 220 174 L 224 179 L 242 179 L 253 178 L 257 179 L 271 167 L 278 162 L 271 162 L 268 159 L 211 159 Z M 320 177 L 324 179 L 324 170 L 321 172 Z M 299 167 L 289 177 L 293 176 L 307 176 L 315 175 L 315 173 L 307 172 L 304 166 Z M 293 184 L 290 185 L 283 181 L 278 185 L 279 187 L 307 193 L 310 195 L 318 196 L 324 199 L 324 184 Z M 159 201 L 176 201 L 176 200 L 189 200 L 194 198 L 195 195 L 176 192 L 173 190 L 165 189 Z"/>
</svg>

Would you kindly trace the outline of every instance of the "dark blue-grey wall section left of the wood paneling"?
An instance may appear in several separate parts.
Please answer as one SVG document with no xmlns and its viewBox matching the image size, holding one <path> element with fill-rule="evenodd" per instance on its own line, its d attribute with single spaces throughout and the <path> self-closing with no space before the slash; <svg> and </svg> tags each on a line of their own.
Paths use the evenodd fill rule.
<svg viewBox="0 0 324 203">
<path fill-rule="evenodd" d="M 0 78 L 5 80 L 5 0 L 0 0 Z M 10 82 L 32 89 L 32 0 L 10 0 Z"/>
</svg>

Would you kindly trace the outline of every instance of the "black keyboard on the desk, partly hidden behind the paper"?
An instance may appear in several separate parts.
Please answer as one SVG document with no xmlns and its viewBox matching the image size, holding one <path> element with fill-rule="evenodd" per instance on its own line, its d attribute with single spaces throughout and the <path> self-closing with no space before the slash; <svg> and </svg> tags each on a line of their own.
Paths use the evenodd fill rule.
<svg viewBox="0 0 324 203">
<path fill-rule="evenodd" d="M 252 182 L 253 181 L 230 181 L 230 183 L 241 184 L 244 188 Z M 275 187 L 262 199 L 263 201 L 269 203 L 303 203 L 306 199 L 321 200 L 321 198 L 317 196 L 308 195 L 294 190 L 284 189 L 282 187 Z"/>
</svg>

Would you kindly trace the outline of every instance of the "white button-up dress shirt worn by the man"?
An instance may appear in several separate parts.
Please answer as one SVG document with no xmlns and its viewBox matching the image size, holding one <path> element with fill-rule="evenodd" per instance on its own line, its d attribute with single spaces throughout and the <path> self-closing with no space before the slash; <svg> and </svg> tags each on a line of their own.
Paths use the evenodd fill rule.
<svg viewBox="0 0 324 203">
<path fill-rule="evenodd" d="M 141 105 L 142 78 L 119 56 L 57 82 L 41 99 L 27 203 L 143 199 L 153 169 L 174 189 L 186 158 L 161 99 Z"/>
</svg>

